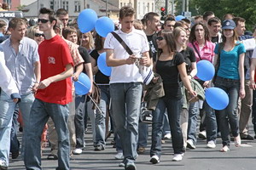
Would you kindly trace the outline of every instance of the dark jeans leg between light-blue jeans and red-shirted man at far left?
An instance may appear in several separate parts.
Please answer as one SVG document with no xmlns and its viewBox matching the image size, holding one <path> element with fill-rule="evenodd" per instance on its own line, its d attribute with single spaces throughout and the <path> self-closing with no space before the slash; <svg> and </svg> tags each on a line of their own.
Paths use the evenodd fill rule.
<svg viewBox="0 0 256 170">
<path fill-rule="evenodd" d="M 19 153 L 19 150 L 20 150 L 20 142 L 17 139 L 18 116 L 19 116 L 19 109 L 16 107 L 14 116 L 13 116 L 12 129 L 10 134 L 10 152 L 11 153 Z"/>
</svg>

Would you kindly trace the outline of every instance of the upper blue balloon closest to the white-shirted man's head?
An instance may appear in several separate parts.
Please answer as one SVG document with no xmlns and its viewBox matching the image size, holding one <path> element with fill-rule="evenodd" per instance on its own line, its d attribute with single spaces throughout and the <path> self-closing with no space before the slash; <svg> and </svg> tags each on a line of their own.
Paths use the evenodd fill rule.
<svg viewBox="0 0 256 170">
<path fill-rule="evenodd" d="M 113 20 L 109 19 L 106 16 L 103 16 L 96 20 L 95 29 L 100 36 L 107 37 L 109 32 L 114 31 Z"/>
</svg>

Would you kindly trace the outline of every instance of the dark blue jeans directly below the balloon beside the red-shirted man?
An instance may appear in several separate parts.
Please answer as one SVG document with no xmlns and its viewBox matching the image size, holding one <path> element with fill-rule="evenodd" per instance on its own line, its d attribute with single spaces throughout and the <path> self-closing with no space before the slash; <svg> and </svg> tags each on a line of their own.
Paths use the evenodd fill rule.
<svg viewBox="0 0 256 170">
<path fill-rule="evenodd" d="M 74 125 L 77 140 L 76 148 L 84 148 L 84 113 L 86 111 L 85 101 L 86 95 L 76 95 L 74 116 Z"/>
</svg>

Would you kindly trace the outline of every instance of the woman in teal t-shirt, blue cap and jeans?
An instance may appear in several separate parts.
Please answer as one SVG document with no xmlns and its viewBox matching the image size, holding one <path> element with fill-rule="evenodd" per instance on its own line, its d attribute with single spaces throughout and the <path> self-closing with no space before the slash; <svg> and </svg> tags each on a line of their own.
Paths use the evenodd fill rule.
<svg viewBox="0 0 256 170">
<path fill-rule="evenodd" d="M 229 96 L 230 103 L 219 115 L 219 127 L 223 147 L 220 151 L 230 150 L 230 130 L 235 145 L 241 144 L 239 123 L 237 116 L 238 98 L 245 97 L 244 88 L 244 57 L 246 50 L 236 36 L 236 23 L 233 20 L 224 20 L 222 23 L 223 42 L 214 49 L 214 65 L 219 65 L 215 87 L 223 89 Z M 229 127 L 230 126 L 230 127 Z M 231 129 L 230 129 L 231 128 Z"/>
</svg>

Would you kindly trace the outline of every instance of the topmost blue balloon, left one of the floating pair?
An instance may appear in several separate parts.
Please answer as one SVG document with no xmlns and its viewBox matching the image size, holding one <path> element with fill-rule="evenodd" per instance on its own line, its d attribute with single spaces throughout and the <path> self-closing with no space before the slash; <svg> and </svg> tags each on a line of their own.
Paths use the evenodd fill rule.
<svg viewBox="0 0 256 170">
<path fill-rule="evenodd" d="M 79 14 L 78 25 L 79 30 L 83 33 L 91 31 L 95 27 L 97 14 L 94 10 L 86 8 Z"/>
</svg>

